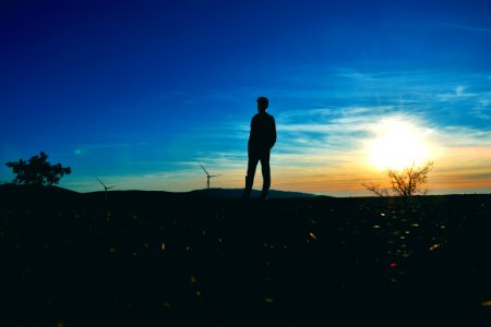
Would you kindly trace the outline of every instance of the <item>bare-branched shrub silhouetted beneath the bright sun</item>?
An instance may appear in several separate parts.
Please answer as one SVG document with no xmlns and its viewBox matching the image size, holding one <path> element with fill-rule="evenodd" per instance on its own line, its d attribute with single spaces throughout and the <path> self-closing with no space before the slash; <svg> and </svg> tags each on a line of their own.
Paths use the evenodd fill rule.
<svg viewBox="0 0 491 327">
<path fill-rule="evenodd" d="M 428 173 L 433 169 L 433 161 L 428 161 L 422 166 L 416 166 L 415 162 L 410 167 L 397 170 L 388 168 L 385 170 L 391 187 L 396 195 L 399 196 L 412 196 L 416 194 L 426 195 L 428 189 L 421 186 L 428 182 Z M 387 196 L 388 191 L 381 189 L 380 184 L 362 183 L 362 185 L 370 192 L 375 193 L 379 196 Z"/>
</svg>

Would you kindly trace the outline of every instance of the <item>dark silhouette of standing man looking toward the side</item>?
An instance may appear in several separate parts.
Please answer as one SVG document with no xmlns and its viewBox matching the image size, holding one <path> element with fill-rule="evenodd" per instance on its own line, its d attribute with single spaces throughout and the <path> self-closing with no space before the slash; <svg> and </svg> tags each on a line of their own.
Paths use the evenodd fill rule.
<svg viewBox="0 0 491 327">
<path fill-rule="evenodd" d="M 255 168 L 261 161 L 263 172 L 263 192 L 261 198 L 267 198 L 271 186 L 270 155 L 276 143 L 276 123 L 273 116 L 266 113 L 270 101 L 266 97 L 258 98 L 258 111 L 251 121 L 251 133 L 248 143 L 248 174 L 246 177 L 244 197 L 251 197 L 252 184 L 254 183 Z"/>
</svg>

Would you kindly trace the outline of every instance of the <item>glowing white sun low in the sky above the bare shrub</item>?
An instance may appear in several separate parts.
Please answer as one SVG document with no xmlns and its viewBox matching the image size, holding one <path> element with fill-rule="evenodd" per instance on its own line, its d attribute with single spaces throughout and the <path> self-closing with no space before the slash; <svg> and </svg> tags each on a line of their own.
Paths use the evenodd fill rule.
<svg viewBox="0 0 491 327">
<path fill-rule="evenodd" d="M 378 169 L 403 169 L 428 159 L 426 133 L 402 120 L 385 120 L 378 126 L 378 136 L 370 142 L 370 156 Z"/>
</svg>

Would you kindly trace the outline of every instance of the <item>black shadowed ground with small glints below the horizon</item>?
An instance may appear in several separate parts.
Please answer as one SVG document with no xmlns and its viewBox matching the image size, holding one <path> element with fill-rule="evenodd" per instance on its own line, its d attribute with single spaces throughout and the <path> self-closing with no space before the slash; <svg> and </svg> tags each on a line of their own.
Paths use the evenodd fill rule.
<svg viewBox="0 0 491 327">
<path fill-rule="evenodd" d="M 491 195 L 0 194 L 0 326 L 491 326 Z"/>
</svg>

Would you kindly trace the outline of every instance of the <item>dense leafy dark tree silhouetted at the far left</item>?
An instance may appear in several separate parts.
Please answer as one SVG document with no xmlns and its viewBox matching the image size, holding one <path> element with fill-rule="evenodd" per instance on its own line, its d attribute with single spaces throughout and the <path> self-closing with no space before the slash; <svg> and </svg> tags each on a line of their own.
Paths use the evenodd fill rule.
<svg viewBox="0 0 491 327">
<path fill-rule="evenodd" d="M 15 179 L 12 181 L 14 184 L 56 185 L 63 175 L 72 172 L 70 167 L 62 167 L 61 164 L 50 165 L 47 159 L 48 155 L 41 152 L 27 161 L 20 159 L 5 165 L 12 168 L 12 172 L 15 174 Z"/>
</svg>

